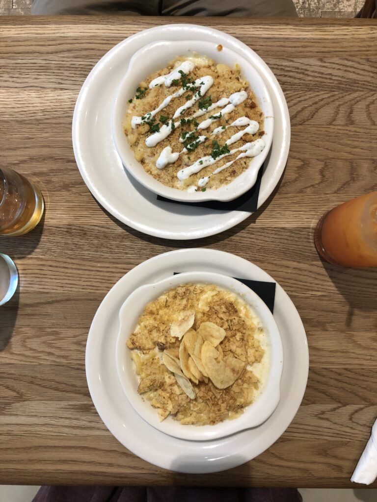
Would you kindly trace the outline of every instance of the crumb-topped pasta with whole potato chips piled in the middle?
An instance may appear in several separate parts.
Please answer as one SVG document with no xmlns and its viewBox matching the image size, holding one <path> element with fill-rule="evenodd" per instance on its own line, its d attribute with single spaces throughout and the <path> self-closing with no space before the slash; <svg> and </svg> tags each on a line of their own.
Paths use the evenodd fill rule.
<svg viewBox="0 0 377 502">
<path fill-rule="evenodd" d="M 139 394 L 161 421 L 214 425 L 237 418 L 260 384 L 250 366 L 264 355 L 255 337 L 261 329 L 239 296 L 216 285 L 167 291 L 145 307 L 127 340 Z"/>
</svg>

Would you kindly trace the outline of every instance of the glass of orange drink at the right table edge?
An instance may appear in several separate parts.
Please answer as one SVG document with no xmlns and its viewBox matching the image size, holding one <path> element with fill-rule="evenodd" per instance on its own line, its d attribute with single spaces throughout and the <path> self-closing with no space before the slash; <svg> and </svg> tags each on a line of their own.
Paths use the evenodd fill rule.
<svg viewBox="0 0 377 502">
<path fill-rule="evenodd" d="M 333 265 L 377 267 L 377 192 L 344 202 L 322 216 L 314 243 Z"/>
</svg>

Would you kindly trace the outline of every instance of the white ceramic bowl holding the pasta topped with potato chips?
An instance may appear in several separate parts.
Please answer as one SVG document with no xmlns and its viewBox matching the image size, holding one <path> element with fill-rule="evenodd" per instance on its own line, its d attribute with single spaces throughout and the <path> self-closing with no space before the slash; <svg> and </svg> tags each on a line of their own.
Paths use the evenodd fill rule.
<svg viewBox="0 0 377 502">
<path fill-rule="evenodd" d="M 248 406 L 244 413 L 234 419 L 216 425 L 181 425 L 167 417 L 159 421 L 157 411 L 148 401 L 138 394 L 138 381 L 135 365 L 126 341 L 135 329 L 144 307 L 165 291 L 187 283 L 216 284 L 228 289 L 247 302 L 259 317 L 266 333 L 270 349 L 270 367 L 263 390 L 258 398 Z M 210 272 L 185 272 L 169 277 L 155 284 L 147 284 L 136 289 L 127 298 L 119 313 L 120 328 L 116 344 L 116 365 L 123 391 L 135 411 L 159 431 L 181 439 L 205 441 L 228 436 L 238 431 L 256 427 L 273 413 L 280 400 L 280 379 L 283 365 L 283 352 L 280 333 L 268 307 L 256 293 L 232 277 Z"/>
</svg>

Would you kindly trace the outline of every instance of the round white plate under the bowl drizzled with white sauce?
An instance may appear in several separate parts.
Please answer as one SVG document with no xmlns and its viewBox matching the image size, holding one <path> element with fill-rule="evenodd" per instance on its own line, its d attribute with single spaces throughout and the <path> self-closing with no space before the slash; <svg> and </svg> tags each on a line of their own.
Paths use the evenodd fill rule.
<svg viewBox="0 0 377 502">
<path fill-rule="evenodd" d="M 284 171 L 291 139 L 287 102 L 264 61 L 239 40 L 197 25 L 158 26 L 116 45 L 87 76 L 77 98 L 72 143 L 78 169 L 98 202 L 117 219 L 141 232 L 169 239 L 195 239 L 231 228 L 250 213 L 218 211 L 158 201 L 156 195 L 126 173 L 111 135 L 111 111 L 132 55 L 155 40 L 206 40 L 229 46 L 247 59 L 263 78 L 274 109 L 272 146 L 264 163 L 258 207 L 272 193 Z"/>
</svg>

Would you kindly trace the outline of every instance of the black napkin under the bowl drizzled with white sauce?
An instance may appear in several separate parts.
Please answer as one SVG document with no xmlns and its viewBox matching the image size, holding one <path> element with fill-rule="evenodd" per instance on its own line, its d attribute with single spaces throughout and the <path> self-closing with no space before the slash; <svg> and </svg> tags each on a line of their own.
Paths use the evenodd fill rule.
<svg viewBox="0 0 377 502">
<path fill-rule="evenodd" d="M 258 197 L 260 182 L 263 174 L 263 164 L 259 168 L 258 176 L 255 185 L 250 188 L 246 193 L 237 199 L 230 200 L 229 202 L 221 202 L 219 200 L 209 200 L 207 202 L 182 202 L 177 200 L 166 199 L 157 195 L 157 200 L 164 202 L 171 202 L 172 204 L 184 204 L 186 206 L 207 207 L 208 209 L 220 209 L 221 211 L 248 211 L 253 213 L 258 209 Z"/>
</svg>

